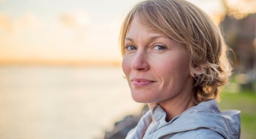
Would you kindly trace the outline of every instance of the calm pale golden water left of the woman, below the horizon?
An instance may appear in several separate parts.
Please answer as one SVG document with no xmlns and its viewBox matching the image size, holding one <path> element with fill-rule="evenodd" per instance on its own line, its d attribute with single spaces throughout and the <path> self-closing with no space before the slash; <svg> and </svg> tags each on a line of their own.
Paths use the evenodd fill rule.
<svg viewBox="0 0 256 139">
<path fill-rule="evenodd" d="M 141 106 L 121 68 L 0 66 L 0 138 L 102 138 Z"/>
</svg>

